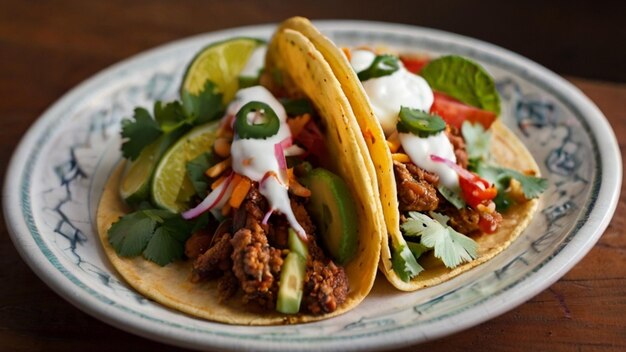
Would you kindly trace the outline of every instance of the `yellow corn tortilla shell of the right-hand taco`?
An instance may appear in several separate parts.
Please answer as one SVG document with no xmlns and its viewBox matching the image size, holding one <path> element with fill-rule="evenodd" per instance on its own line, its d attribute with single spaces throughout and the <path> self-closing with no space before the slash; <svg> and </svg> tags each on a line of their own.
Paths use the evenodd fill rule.
<svg viewBox="0 0 626 352">
<path fill-rule="evenodd" d="M 375 195 L 372 195 L 372 198 L 380 199 L 385 217 L 385 226 L 380 228 L 382 233 L 380 269 L 391 284 L 403 291 L 414 291 L 449 280 L 493 258 L 508 247 L 526 228 L 538 207 L 538 200 L 536 199 L 514 206 L 502 214 L 502 224 L 495 234 L 475 238 L 479 246 L 477 259 L 454 269 L 447 269 L 441 261 L 426 258 L 425 261 L 420 260 L 420 264 L 426 270 L 410 282 L 402 281 L 393 271 L 391 265 L 390 246 L 395 247 L 404 242 L 400 232 L 400 212 L 398 210 L 393 161 L 385 143 L 386 138 L 383 130 L 372 111 L 369 98 L 343 52 L 313 27 L 307 19 L 302 17 L 291 18 L 283 22 L 282 28 L 299 31 L 311 40 L 332 68 L 354 110 L 356 121 L 367 145 L 368 154 L 375 166 L 372 177 L 378 182 L 380 198 Z M 500 121 L 496 121 L 492 129 L 491 152 L 497 163 L 516 170 L 532 170 L 536 175 L 539 175 L 539 168 L 532 155 L 510 130 Z"/>
</svg>

